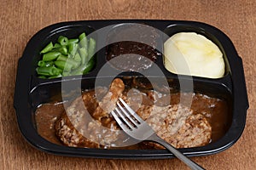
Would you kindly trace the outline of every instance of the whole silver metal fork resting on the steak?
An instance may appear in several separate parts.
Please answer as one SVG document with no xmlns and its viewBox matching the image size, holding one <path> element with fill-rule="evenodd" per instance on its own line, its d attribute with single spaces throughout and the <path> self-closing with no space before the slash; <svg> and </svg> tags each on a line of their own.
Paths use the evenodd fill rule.
<svg viewBox="0 0 256 170">
<path fill-rule="evenodd" d="M 154 132 L 152 127 L 150 127 L 147 122 L 144 122 L 140 116 L 137 116 L 137 113 L 133 111 L 123 99 L 119 98 L 117 107 L 111 111 L 111 114 L 119 126 L 125 131 L 125 133 L 130 135 L 132 138 L 140 141 L 150 140 L 161 144 L 166 147 L 167 150 L 170 150 L 174 156 L 187 164 L 191 169 L 204 169 L 194 161 L 191 161 L 187 156 L 184 156 L 164 139 L 161 139 Z"/>
</svg>

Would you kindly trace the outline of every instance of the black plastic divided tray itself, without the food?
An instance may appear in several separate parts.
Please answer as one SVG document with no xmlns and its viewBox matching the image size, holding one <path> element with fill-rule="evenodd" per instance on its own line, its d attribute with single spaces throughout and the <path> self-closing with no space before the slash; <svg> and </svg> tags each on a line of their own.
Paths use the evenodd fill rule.
<svg viewBox="0 0 256 170">
<path fill-rule="evenodd" d="M 216 94 L 228 99 L 230 106 L 230 128 L 224 137 L 216 142 L 202 147 L 180 149 L 186 156 L 204 156 L 226 150 L 240 138 L 245 127 L 247 116 L 247 89 L 241 58 L 236 53 L 230 38 L 213 26 L 194 21 L 179 20 L 84 20 L 58 23 L 38 31 L 27 43 L 25 51 L 19 60 L 15 85 L 15 110 L 20 131 L 25 139 L 39 150 L 61 156 L 85 156 L 100 158 L 126 159 L 162 159 L 173 157 L 167 150 L 102 150 L 74 148 L 53 144 L 42 138 L 35 127 L 34 111 L 38 105 L 49 102 L 51 97 L 61 92 L 61 78 L 40 79 L 35 68 L 40 58 L 39 51 L 50 41 L 61 35 L 78 37 L 83 31 L 90 34 L 104 26 L 122 23 L 140 23 L 153 26 L 164 31 L 168 36 L 180 31 L 195 31 L 215 42 L 224 54 L 226 65 L 225 75 L 222 78 L 210 79 L 193 77 L 195 91 L 204 94 Z M 163 48 L 164 39 L 160 48 Z M 97 72 L 106 63 L 106 48 L 96 53 L 96 68 L 83 77 L 65 77 L 65 82 L 81 81 L 82 88 L 94 88 Z M 177 75 L 166 71 L 162 57 L 155 62 L 166 77 L 177 80 Z M 149 68 L 150 69 L 150 68 Z M 134 76 L 134 73 L 125 73 Z M 108 75 L 113 78 L 113 75 Z M 102 77 L 103 78 L 103 77 Z M 105 77 L 106 78 L 106 77 Z M 186 77 L 182 77 L 186 79 Z"/>
</svg>

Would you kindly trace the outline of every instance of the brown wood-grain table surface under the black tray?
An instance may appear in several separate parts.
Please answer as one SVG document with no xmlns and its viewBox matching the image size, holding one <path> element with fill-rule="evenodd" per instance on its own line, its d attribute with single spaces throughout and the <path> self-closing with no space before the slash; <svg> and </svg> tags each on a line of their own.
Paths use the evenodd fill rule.
<svg viewBox="0 0 256 170">
<path fill-rule="evenodd" d="M 16 123 L 13 96 L 17 61 L 26 43 L 50 24 L 100 19 L 197 20 L 224 31 L 243 59 L 250 103 L 247 125 L 241 139 L 230 149 L 192 159 L 207 169 L 255 169 L 255 1 L 2 0 L 0 8 L 0 169 L 188 169 L 177 159 L 125 161 L 53 156 L 34 149 L 22 138 Z"/>
</svg>

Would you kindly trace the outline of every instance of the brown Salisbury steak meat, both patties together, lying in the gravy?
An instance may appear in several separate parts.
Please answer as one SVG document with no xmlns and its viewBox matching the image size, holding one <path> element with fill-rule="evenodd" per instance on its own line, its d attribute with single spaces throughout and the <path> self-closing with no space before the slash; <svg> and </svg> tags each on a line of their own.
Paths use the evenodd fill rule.
<svg viewBox="0 0 256 170">
<path fill-rule="evenodd" d="M 104 94 L 100 102 L 96 99 L 96 90 Z M 141 93 L 137 89 L 125 89 L 124 82 L 116 78 L 106 88 L 84 92 L 75 99 L 55 123 L 56 136 L 63 144 L 74 147 L 108 148 L 120 138 L 119 127 L 109 114 L 121 97 L 132 106 Z M 135 111 L 154 128 L 155 132 L 177 148 L 188 148 L 208 144 L 212 127 L 207 118 L 182 105 L 154 105 L 150 93 L 141 93 L 142 103 Z M 150 101 L 150 102 L 148 102 Z M 162 148 L 159 144 L 143 142 L 144 147 Z"/>
</svg>

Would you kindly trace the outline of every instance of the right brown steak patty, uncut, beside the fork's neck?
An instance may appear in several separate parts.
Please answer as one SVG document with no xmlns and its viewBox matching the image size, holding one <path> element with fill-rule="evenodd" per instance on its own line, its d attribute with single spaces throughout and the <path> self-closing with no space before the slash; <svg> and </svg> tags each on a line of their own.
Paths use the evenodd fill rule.
<svg viewBox="0 0 256 170">
<path fill-rule="evenodd" d="M 212 135 L 212 127 L 205 116 L 193 113 L 181 105 L 148 108 L 151 110 L 147 118 L 154 131 L 176 148 L 189 148 L 208 144 Z M 146 111 L 146 113 L 149 111 Z M 142 114 L 139 112 L 139 114 Z M 144 117 L 145 118 L 145 117 Z M 155 148 L 163 148 L 160 144 L 148 143 Z"/>
</svg>

